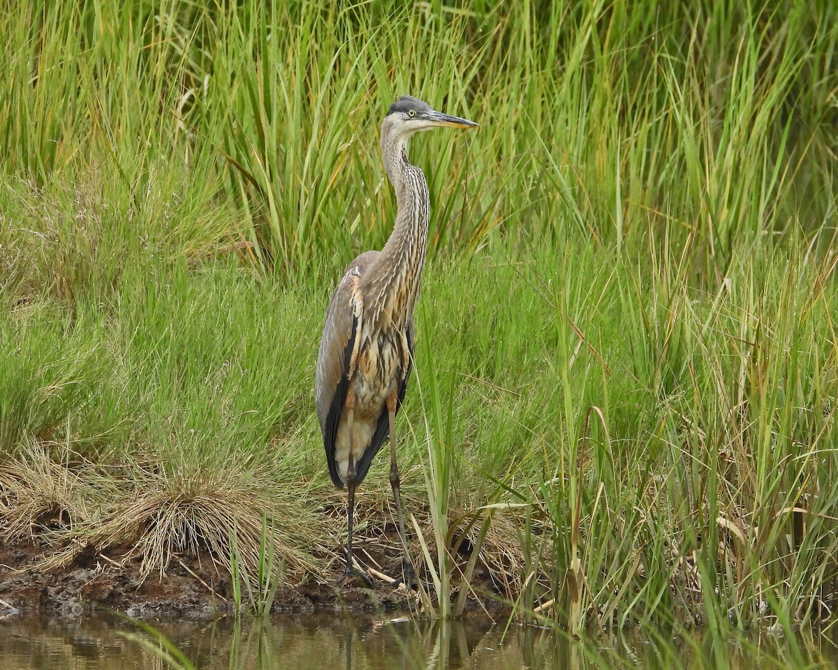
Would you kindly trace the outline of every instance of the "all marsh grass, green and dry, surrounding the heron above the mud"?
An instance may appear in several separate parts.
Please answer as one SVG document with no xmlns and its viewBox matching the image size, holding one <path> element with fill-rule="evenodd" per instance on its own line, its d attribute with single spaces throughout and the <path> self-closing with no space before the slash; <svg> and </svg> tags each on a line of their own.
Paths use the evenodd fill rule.
<svg viewBox="0 0 838 670">
<path fill-rule="evenodd" d="M 479 564 L 575 632 L 831 616 L 835 18 L 3 10 L 8 539 L 31 518 L 147 573 L 204 547 L 256 574 L 268 527 L 286 584 L 328 578 L 313 361 L 340 272 L 390 233 L 378 127 L 409 92 L 481 124 L 411 142 L 431 262 L 400 463 L 437 611 Z"/>
</svg>

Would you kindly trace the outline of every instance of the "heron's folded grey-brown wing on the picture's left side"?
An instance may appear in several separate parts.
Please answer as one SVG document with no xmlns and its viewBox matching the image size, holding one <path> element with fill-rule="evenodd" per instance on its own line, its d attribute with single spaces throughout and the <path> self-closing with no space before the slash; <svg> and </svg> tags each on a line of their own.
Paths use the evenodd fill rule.
<svg viewBox="0 0 838 670">
<path fill-rule="evenodd" d="M 360 331 L 360 317 L 354 312 L 353 306 L 360 278 L 376 253 L 368 251 L 349 264 L 344 278 L 335 287 L 332 299 L 328 303 L 326 321 L 323 324 L 323 339 L 320 340 L 314 395 L 317 400 L 317 414 L 320 432 L 323 434 L 328 472 L 334 485 L 339 488 L 344 487 L 344 482 L 340 479 L 338 464 L 334 459 L 334 441 L 338 435 L 340 416 L 344 411 L 344 402 L 349 390 L 352 350 Z"/>
</svg>

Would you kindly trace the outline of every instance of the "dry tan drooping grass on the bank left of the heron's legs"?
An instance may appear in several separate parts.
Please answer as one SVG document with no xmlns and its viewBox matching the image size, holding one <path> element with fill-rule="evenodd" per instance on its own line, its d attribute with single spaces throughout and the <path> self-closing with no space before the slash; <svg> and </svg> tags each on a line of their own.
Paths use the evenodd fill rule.
<svg viewBox="0 0 838 670">
<path fill-rule="evenodd" d="M 55 462 L 45 445 L 30 446 L 0 466 L 0 539 L 37 536 L 59 548 L 44 570 L 70 564 L 85 547 L 127 545 L 126 558 L 141 559 L 145 577 L 162 575 L 175 555 L 199 551 L 229 567 L 235 533 L 239 559 L 255 574 L 265 518 L 283 580 L 302 580 L 328 562 L 329 519 L 311 512 L 304 489 L 278 496 L 260 477 L 167 477 L 135 468 L 141 472 L 116 480 L 88 463 Z"/>
</svg>

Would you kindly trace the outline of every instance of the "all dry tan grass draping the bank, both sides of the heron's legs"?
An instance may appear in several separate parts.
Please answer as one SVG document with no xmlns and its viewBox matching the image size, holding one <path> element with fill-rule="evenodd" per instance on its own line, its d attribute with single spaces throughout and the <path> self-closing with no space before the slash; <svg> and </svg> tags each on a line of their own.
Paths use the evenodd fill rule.
<svg viewBox="0 0 838 670">
<path fill-rule="evenodd" d="M 222 569 L 240 563 L 241 575 L 256 575 L 261 533 L 267 524 L 272 554 L 282 564 L 280 584 L 330 581 L 339 570 L 346 533 L 346 497 L 332 487 L 272 488 L 270 473 L 189 472 L 167 474 L 159 463 L 123 464 L 120 472 L 103 472 L 79 456 L 56 461 L 59 446 L 33 443 L 0 466 L 0 539 L 7 543 L 46 540 L 54 552 L 41 570 L 66 567 L 85 549 L 105 552 L 127 548 L 122 559 L 139 559 L 142 578 L 163 575 L 178 557 L 208 552 Z M 275 485 L 273 485 L 275 486 Z M 426 542 L 432 520 L 419 494 L 407 500 Z M 475 508 L 463 509 L 468 519 Z M 381 559 L 401 559 L 395 509 L 389 487 L 370 487 L 356 510 L 360 558 L 379 570 Z M 480 564 L 500 590 L 520 586 L 520 523 L 515 513 L 494 514 L 480 547 Z M 479 523 L 458 528 L 449 551 L 458 582 L 468 552 L 456 554 L 464 538 L 474 543 Z M 413 535 L 413 533 L 410 533 Z M 235 537 L 234 537 L 235 535 Z M 272 539 L 271 539 L 272 537 Z M 419 540 L 411 537 L 411 554 L 422 567 Z M 394 575 L 396 576 L 396 575 Z"/>
</svg>

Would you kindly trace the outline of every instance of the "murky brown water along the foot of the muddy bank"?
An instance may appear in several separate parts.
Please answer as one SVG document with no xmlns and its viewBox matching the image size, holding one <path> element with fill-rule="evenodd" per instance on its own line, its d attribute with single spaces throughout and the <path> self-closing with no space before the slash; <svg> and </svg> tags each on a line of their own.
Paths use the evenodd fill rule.
<svg viewBox="0 0 838 670">
<path fill-rule="evenodd" d="M 561 631 L 493 626 L 472 620 L 446 625 L 430 621 L 277 617 L 241 625 L 158 622 L 202 670 L 383 670 L 384 668 L 563 668 L 838 667 L 830 637 L 815 633 L 791 640 L 773 634 L 711 639 L 649 634 L 634 629 L 579 642 Z M 126 621 L 106 616 L 79 621 L 14 618 L 0 621 L 0 670 L 133 670 L 163 668 L 146 649 L 117 634 Z"/>
</svg>

